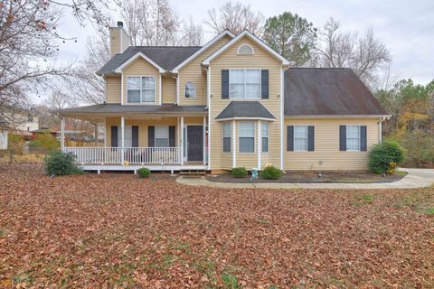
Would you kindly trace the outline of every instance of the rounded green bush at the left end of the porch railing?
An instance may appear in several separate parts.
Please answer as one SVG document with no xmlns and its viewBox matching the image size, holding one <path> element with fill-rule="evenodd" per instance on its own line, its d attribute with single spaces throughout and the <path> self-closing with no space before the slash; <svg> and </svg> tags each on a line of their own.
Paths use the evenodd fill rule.
<svg viewBox="0 0 434 289">
<path fill-rule="evenodd" d="M 55 152 L 50 154 L 44 163 L 45 172 L 48 175 L 67 175 L 71 173 L 83 172 L 75 164 L 75 156 L 72 154 L 65 154 L 62 152 Z"/>
</svg>

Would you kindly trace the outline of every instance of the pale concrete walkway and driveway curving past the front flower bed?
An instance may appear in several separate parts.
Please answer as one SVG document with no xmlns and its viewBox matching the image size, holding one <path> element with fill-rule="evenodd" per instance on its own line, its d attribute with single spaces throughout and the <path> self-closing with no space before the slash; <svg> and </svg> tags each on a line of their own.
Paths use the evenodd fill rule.
<svg viewBox="0 0 434 289">
<path fill-rule="evenodd" d="M 379 183 L 233 183 L 233 182 L 210 182 L 205 178 L 191 178 L 180 176 L 176 182 L 212 188 L 263 188 L 263 189 L 415 189 L 429 187 L 434 183 L 434 169 L 405 169 L 400 171 L 408 174 L 397 182 Z"/>
</svg>

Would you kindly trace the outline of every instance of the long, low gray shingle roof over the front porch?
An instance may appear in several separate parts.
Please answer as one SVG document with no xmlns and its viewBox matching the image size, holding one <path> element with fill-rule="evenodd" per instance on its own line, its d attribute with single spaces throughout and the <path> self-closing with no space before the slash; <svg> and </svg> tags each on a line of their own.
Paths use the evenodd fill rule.
<svg viewBox="0 0 434 289">
<path fill-rule="evenodd" d="M 173 104 L 164 104 L 162 106 L 122 106 L 121 104 L 100 104 L 87 107 L 65 108 L 57 111 L 63 116 L 67 115 L 109 115 L 109 114 L 141 114 L 141 113 L 201 113 L 206 112 L 205 106 L 175 106 Z"/>
</svg>

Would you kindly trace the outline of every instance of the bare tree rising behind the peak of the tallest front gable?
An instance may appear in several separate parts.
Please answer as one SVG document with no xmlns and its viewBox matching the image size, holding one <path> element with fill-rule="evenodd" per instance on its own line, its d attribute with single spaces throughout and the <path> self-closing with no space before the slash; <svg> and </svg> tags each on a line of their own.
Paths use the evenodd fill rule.
<svg viewBox="0 0 434 289">
<path fill-rule="evenodd" d="M 263 15 L 253 12 L 250 5 L 242 5 L 240 2 L 226 2 L 218 10 L 208 10 L 209 20 L 205 21 L 213 33 L 222 33 L 229 29 L 231 33 L 238 34 L 244 29 L 258 36 L 262 33 Z"/>
</svg>

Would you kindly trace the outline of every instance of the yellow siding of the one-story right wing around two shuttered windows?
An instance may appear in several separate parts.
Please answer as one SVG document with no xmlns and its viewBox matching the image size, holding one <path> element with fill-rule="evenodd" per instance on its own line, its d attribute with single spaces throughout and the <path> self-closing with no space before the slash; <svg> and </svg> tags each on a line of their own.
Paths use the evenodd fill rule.
<svg viewBox="0 0 434 289">
<path fill-rule="evenodd" d="M 284 126 L 284 160 L 286 170 L 367 170 L 369 151 L 377 144 L 379 119 L 335 118 L 294 119 L 286 118 Z M 314 152 L 288 152 L 287 126 L 315 126 Z M 367 152 L 339 151 L 339 126 L 367 126 Z M 320 165 L 319 163 L 322 162 Z"/>
</svg>

